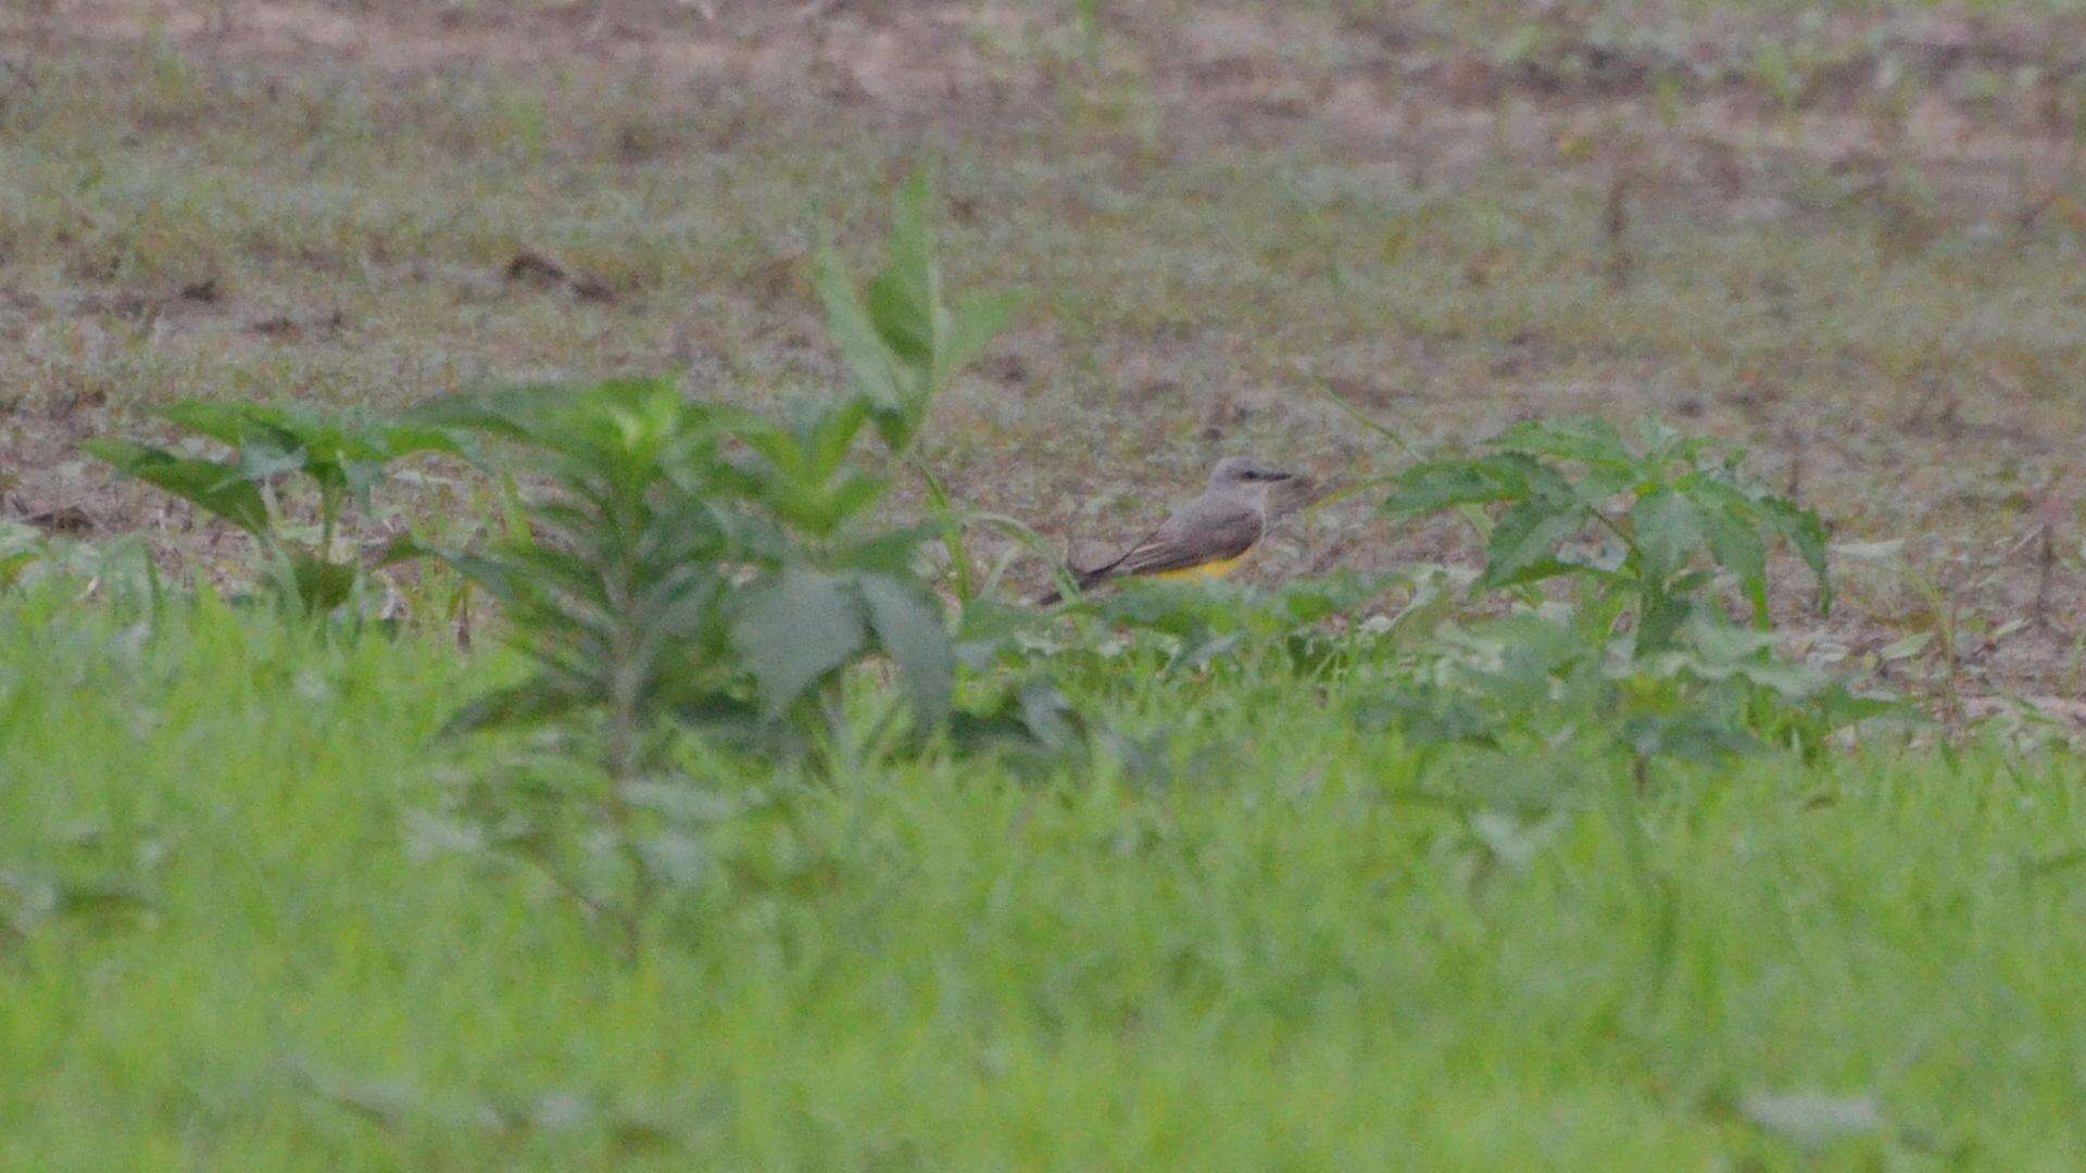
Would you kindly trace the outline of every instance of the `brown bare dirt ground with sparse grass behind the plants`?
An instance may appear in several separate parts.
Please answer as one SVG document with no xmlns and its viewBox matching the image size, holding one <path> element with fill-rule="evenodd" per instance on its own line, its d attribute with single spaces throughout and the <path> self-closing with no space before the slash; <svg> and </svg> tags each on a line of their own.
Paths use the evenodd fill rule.
<svg viewBox="0 0 2086 1173">
<path fill-rule="evenodd" d="M 1846 566 L 1815 653 L 2073 695 L 2082 46 L 2026 4 L 31 0 L 0 17 L 0 513 L 234 557 L 73 451 L 175 394 L 807 392 L 809 248 L 872 242 L 935 154 L 957 276 L 1033 292 L 935 457 L 1081 555 L 1224 451 L 1402 459 L 1318 390 L 1423 449 L 1650 409 L 1907 538 Z M 1264 576 L 1471 557 L 1360 503 L 1272 545 Z"/>
</svg>

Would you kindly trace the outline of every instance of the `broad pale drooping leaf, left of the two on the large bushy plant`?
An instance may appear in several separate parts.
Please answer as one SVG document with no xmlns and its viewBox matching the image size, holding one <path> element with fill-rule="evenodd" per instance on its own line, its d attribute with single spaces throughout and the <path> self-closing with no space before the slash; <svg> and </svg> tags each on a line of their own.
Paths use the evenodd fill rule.
<svg viewBox="0 0 2086 1173">
<path fill-rule="evenodd" d="M 747 589 L 732 643 L 761 687 L 768 718 L 782 716 L 818 678 L 862 653 L 868 626 L 845 578 L 791 566 Z"/>
</svg>

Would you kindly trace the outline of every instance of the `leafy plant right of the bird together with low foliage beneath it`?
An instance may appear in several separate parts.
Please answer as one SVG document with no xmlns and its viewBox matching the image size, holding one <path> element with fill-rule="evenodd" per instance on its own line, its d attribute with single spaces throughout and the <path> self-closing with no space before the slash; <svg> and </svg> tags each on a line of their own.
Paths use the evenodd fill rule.
<svg viewBox="0 0 2086 1173">
<path fill-rule="evenodd" d="M 1433 624 L 1389 662 L 1366 718 L 1421 745 L 1596 758 L 1717 760 L 1796 745 L 1896 712 L 1775 653 L 1767 555 L 1792 547 L 1832 605 L 1825 526 L 1742 472 L 1738 453 L 1644 420 L 1527 422 L 1471 457 L 1427 459 L 1391 480 L 1393 520 L 1458 509 L 1485 541 L 1473 595 L 1506 593 L 1506 618 Z M 1567 580 L 1567 603 L 1537 584 Z M 1727 609 L 1744 601 L 1752 630 Z"/>
</svg>

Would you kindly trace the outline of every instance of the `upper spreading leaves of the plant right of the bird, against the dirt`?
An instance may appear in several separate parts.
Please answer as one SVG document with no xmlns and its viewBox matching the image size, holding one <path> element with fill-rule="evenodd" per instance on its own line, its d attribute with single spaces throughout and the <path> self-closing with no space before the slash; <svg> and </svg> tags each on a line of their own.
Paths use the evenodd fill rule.
<svg viewBox="0 0 2086 1173">
<path fill-rule="evenodd" d="M 1817 513 L 1744 478 L 1742 457 L 1646 420 L 1638 442 L 1602 420 L 1531 422 L 1481 455 L 1427 459 L 1391 482 L 1383 513 L 1491 509 L 1485 568 L 1473 591 L 1552 578 L 1581 586 L 1579 616 L 1602 637 L 1633 630 L 1638 657 L 1677 647 L 1690 620 L 1736 595 L 1769 628 L 1767 555 L 1796 549 L 1832 607 L 1825 526 Z"/>
</svg>

